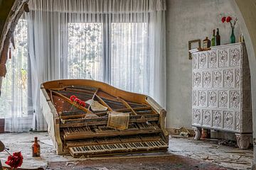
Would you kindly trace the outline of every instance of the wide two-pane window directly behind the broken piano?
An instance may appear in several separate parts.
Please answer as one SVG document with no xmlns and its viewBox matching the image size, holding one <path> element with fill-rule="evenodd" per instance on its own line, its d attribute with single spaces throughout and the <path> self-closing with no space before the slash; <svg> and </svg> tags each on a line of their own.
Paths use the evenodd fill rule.
<svg viewBox="0 0 256 170">
<path fill-rule="evenodd" d="M 145 93 L 148 23 L 107 21 L 68 23 L 68 79 Z"/>
</svg>

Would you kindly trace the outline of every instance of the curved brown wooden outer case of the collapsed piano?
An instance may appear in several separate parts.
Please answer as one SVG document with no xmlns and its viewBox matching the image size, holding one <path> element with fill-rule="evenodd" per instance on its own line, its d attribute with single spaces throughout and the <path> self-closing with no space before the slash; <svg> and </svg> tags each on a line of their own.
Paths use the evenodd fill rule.
<svg viewBox="0 0 256 170">
<path fill-rule="evenodd" d="M 164 136 L 164 142 L 166 142 L 166 144 L 168 145 L 169 135 L 166 131 L 166 111 L 164 110 L 164 108 L 161 108 L 161 106 L 159 106 L 159 104 L 156 103 L 153 98 L 142 94 L 134 94 L 128 91 L 122 91 L 100 81 L 93 81 L 87 79 L 64 79 L 47 81 L 41 84 L 41 111 L 43 112 L 44 118 L 46 119 L 46 122 L 48 124 L 48 133 L 53 140 L 53 144 L 55 146 L 57 154 L 68 154 L 69 152 L 68 149 L 64 147 L 63 140 L 61 140 L 60 137 L 60 115 L 58 114 L 55 106 L 53 106 L 53 98 L 48 95 L 47 91 L 48 89 L 63 89 L 67 86 L 92 86 L 100 89 L 101 91 L 107 92 L 107 94 L 122 98 L 122 100 L 124 100 L 124 104 L 125 101 L 132 101 L 134 103 L 145 103 L 146 105 L 151 106 L 151 108 L 159 114 L 159 126 Z M 97 92 L 95 92 L 95 94 L 96 93 Z M 127 108 L 129 108 L 129 106 L 127 106 Z M 143 119 L 145 119 L 144 116 Z M 131 120 L 132 119 L 130 119 L 130 121 Z M 77 124 L 79 125 L 79 122 Z"/>
</svg>

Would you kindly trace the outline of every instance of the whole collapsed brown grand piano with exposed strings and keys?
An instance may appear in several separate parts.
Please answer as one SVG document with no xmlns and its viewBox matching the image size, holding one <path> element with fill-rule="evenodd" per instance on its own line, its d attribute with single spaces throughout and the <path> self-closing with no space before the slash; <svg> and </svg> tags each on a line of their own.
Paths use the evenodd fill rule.
<svg viewBox="0 0 256 170">
<path fill-rule="evenodd" d="M 149 96 L 82 79 L 48 81 L 41 92 L 57 154 L 97 157 L 168 148 L 166 111 Z"/>
</svg>

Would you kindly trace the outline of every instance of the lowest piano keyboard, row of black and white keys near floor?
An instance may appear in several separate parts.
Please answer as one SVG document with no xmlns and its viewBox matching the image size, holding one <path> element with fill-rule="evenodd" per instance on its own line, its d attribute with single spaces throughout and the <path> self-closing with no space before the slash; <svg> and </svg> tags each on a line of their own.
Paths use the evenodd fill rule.
<svg viewBox="0 0 256 170">
<path fill-rule="evenodd" d="M 90 145 L 80 147 L 69 147 L 73 157 L 82 155 L 110 154 L 121 152 L 150 152 L 153 150 L 166 150 L 168 145 L 163 140 L 149 142 L 126 142 L 107 145 Z"/>
</svg>

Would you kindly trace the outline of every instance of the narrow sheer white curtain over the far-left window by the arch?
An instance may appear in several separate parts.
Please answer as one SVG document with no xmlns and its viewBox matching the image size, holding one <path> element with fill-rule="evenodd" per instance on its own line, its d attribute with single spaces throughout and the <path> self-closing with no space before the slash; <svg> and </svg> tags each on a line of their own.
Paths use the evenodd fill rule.
<svg viewBox="0 0 256 170">
<path fill-rule="evenodd" d="M 10 45 L 7 74 L 2 82 L 0 116 L 5 131 L 18 132 L 32 128 L 31 69 L 28 57 L 27 21 L 18 21 L 14 31 L 16 48 Z"/>
</svg>

